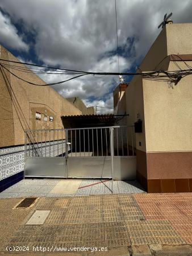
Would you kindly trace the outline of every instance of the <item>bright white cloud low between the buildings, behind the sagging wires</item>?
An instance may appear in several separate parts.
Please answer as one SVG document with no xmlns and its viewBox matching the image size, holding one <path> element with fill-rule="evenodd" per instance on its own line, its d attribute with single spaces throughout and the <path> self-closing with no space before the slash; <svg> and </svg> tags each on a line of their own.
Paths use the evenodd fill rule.
<svg viewBox="0 0 192 256">
<path fill-rule="evenodd" d="M 128 60 L 120 57 L 119 58 L 122 68 L 130 68 L 130 63 L 128 63 Z M 117 56 L 110 56 L 105 57 L 95 63 L 93 70 L 95 72 L 116 72 L 117 67 Z M 47 83 L 57 82 L 57 81 L 63 81 L 70 79 L 69 75 L 41 75 L 41 78 L 46 81 Z M 55 85 L 54 88 L 64 97 L 73 97 L 77 96 L 80 97 L 82 100 L 87 100 L 87 98 L 94 97 L 94 98 L 108 98 L 111 96 L 111 90 L 114 89 L 114 86 L 117 86 L 118 84 L 118 77 L 116 76 L 98 76 L 98 75 L 88 75 L 84 77 L 79 77 L 78 79 L 74 79 L 71 81 L 68 81 L 64 83 L 63 85 Z M 90 105 L 94 105 L 95 103 L 88 100 Z M 97 100 L 95 102 L 100 102 L 100 100 Z M 101 102 L 104 102 L 101 100 Z M 109 102 L 107 102 L 109 104 Z M 111 105 L 107 105 L 108 107 L 112 107 L 112 101 L 110 101 Z M 96 104 L 95 104 L 96 105 Z M 98 105 L 98 104 L 97 104 Z M 102 110 L 101 110 L 102 111 Z"/>
</svg>

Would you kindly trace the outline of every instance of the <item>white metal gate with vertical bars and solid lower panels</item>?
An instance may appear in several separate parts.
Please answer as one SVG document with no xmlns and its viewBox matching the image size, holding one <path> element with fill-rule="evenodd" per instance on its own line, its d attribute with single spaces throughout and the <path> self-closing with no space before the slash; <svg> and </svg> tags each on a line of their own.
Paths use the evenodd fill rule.
<svg viewBox="0 0 192 256">
<path fill-rule="evenodd" d="M 28 130 L 26 177 L 135 179 L 133 127 Z"/>
</svg>

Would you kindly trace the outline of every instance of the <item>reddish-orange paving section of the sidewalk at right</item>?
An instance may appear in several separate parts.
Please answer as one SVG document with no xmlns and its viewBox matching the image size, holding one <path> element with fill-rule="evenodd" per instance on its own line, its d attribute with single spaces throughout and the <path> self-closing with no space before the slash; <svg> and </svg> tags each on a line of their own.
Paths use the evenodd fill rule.
<svg viewBox="0 0 192 256">
<path fill-rule="evenodd" d="M 168 220 L 186 243 L 192 243 L 192 193 L 134 195 L 147 220 Z"/>
</svg>

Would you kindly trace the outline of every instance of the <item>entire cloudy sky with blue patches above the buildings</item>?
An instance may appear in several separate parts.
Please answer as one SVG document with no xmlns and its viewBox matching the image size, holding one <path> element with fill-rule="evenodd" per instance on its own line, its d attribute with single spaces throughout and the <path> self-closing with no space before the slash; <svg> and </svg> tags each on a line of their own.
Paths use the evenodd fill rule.
<svg viewBox="0 0 192 256">
<path fill-rule="evenodd" d="M 173 22 L 192 22 L 191 0 L 116 0 L 116 10 L 120 72 L 135 72 L 165 13 L 173 13 Z M 0 0 L 0 27 L 0 43 L 23 61 L 118 72 L 114 0 Z M 43 76 L 46 82 L 66 78 Z M 111 108 L 117 85 L 118 77 L 90 75 L 54 88 L 64 97 L 82 98 L 87 106 Z"/>
</svg>

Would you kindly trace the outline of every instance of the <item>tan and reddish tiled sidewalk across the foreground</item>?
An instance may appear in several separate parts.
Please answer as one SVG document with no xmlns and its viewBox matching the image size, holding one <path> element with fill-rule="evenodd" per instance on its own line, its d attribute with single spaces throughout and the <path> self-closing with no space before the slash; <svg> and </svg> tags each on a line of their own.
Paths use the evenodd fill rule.
<svg viewBox="0 0 192 256">
<path fill-rule="evenodd" d="M 192 255 L 191 199 L 192 193 L 41 197 L 26 209 L 15 208 L 22 199 L 1 199 L 1 252 L 28 246 L 20 254 L 49 255 L 53 247 L 86 246 L 107 251 L 62 254 Z M 50 211 L 44 224 L 26 225 L 36 210 Z"/>
</svg>

